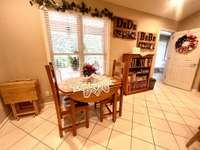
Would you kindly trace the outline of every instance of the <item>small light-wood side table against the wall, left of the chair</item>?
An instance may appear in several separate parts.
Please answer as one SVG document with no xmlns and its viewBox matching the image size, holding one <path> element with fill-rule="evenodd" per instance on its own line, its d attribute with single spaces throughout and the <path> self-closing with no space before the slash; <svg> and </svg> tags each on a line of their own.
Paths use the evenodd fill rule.
<svg viewBox="0 0 200 150">
<path fill-rule="evenodd" d="M 37 80 L 20 80 L 0 84 L 0 95 L 11 106 L 13 115 L 39 114 L 39 84 Z"/>
</svg>

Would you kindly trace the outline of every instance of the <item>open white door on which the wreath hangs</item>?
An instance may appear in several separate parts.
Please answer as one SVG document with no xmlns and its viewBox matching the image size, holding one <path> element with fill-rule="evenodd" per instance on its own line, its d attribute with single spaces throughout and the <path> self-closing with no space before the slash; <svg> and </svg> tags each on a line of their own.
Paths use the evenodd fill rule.
<svg viewBox="0 0 200 150">
<path fill-rule="evenodd" d="M 185 34 L 192 33 L 198 37 L 198 46 L 188 54 L 176 52 L 176 41 Z M 200 29 L 175 32 L 169 41 L 164 83 L 181 89 L 191 90 L 200 59 Z"/>
</svg>

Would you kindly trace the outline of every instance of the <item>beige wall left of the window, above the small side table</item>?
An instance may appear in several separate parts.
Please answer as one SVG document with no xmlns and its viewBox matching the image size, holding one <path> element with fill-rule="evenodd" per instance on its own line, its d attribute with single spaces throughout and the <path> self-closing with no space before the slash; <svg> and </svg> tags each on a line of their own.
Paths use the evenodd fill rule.
<svg viewBox="0 0 200 150">
<path fill-rule="evenodd" d="M 47 63 L 40 13 L 30 7 L 29 1 L 0 5 L 0 50 L 4 53 L 4 66 L 9 80 L 36 78 L 42 91 L 49 89 L 44 65 Z M 43 94 L 44 95 L 44 94 Z"/>
</svg>

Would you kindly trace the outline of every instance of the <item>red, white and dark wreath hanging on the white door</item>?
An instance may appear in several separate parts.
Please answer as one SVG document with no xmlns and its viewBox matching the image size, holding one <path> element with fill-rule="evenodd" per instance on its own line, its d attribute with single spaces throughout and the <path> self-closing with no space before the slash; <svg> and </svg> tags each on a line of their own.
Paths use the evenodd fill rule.
<svg viewBox="0 0 200 150">
<path fill-rule="evenodd" d="M 187 35 L 180 37 L 175 44 L 176 52 L 180 54 L 188 54 L 196 49 L 198 46 L 198 40 L 196 35 Z"/>
</svg>

